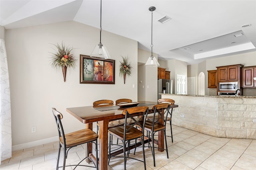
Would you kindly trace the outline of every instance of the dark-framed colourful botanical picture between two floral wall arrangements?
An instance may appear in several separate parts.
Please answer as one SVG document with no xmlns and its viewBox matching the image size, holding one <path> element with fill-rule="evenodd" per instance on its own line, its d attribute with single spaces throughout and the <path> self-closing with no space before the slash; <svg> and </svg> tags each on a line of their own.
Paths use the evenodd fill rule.
<svg viewBox="0 0 256 170">
<path fill-rule="evenodd" d="M 115 84 L 115 61 L 80 55 L 80 83 Z"/>
</svg>

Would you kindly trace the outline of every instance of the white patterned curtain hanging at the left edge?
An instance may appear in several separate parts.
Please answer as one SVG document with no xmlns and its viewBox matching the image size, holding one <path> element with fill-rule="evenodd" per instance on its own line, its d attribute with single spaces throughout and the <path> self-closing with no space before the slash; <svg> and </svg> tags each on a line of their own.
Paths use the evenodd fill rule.
<svg viewBox="0 0 256 170">
<path fill-rule="evenodd" d="M 12 156 L 10 84 L 4 40 L 0 39 L 0 164 Z"/>
</svg>

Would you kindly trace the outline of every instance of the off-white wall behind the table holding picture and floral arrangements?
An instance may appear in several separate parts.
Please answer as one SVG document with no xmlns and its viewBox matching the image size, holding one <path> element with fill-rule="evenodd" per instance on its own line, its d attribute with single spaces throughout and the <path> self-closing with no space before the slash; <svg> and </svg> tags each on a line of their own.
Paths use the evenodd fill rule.
<svg viewBox="0 0 256 170">
<path fill-rule="evenodd" d="M 12 145 L 19 145 L 57 136 L 51 107 L 63 113 L 66 133 L 84 128 L 66 112 L 67 107 L 91 106 L 101 99 L 130 98 L 137 101 L 138 42 L 102 31 L 102 43 L 115 60 L 115 84 L 80 84 L 79 56 L 90 55 L 99 43 L 100 31 L 75 21 L 6 30 L 6 50 L 10 75 L 12 109 Z M 52 44 L 73 46 L 76 68 L 68 70 L 66 82 L 61 70 L 50 66 Z M 119 61 L 128 56 L 132 74 L 126 84 L 119 76 Z M 135 84 L 135 88 L 132 88 Z M 31 127 L 36 126 L 36 133 Z"/>
</svg>

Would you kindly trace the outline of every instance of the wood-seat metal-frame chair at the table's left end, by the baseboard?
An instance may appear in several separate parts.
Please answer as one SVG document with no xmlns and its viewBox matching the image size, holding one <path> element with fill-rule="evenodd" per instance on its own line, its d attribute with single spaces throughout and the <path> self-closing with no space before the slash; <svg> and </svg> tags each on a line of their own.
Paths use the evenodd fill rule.
<svg viewBox="0 0 256 170">
<path fill-rule="evenodd" d="M 52 113 L 54 115 L 54 119 L 56 121 L 58 134 L 59 134 L 59 150 L 58 150 L 56 170 L 58 170 L 58 168 L 62 168 L 62 170 L 65 170 L 66 166 L 75 166 L 75 168 L 77 166 L 87 166 L 87 167 L 96 168 L 98 170 L 98 161 L 93 162 L 88 156 L 82 159 L 77 165 L 66 165 L 66 158 L 68 157 L 68 151 L 71 148 L 76 147 L 78 145 L 82 145 L 82 144 L 87 144 L 87 147 L 88 147 L 88 143 L 95 144 L 96 160 L 98 160 L 98 145 L 97 145 L 98 135 L 91 129 L 81 129 L 79 131 L 74 131 L 74 132 L 65 134 L 62 126 L 62 122 L 61 122 L 63 115 L 59 111 L 57 111 L 55 108 L 52 108 Z M 59 166 L 61 147 L 63 148 L 63 166 Z M 87 149 L 87 155 L 89 155 L 88 149 Z M 89 158 L 94 163 L 95 167 L 88 166 L 88 165 L 80 165 L 80 163 L 86 158 Z"/>
</svg>

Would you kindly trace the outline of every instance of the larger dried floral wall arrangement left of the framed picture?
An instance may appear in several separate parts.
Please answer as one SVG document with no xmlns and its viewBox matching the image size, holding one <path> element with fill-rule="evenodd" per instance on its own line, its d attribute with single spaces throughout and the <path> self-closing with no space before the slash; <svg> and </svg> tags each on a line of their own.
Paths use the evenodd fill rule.
<svg viewBox="0 0 256 170">
<path fill-rule="evenodd" d="M 51 64 L 52 64 L 52 67 L 55 68 L 56 70 L 58 70 L 59 68 L 62 68 L 64 82 L 66 82 L 67 68 L 76 67 L 76 63 L 75 63 L 76 59 L 74 58 L 74 55 L 71 54 L 73 47 L 65 47 L 63 42 L 61 46 L 58 43 L 57 45 L 54 45 L 54 46 L 57 48 L 57 50 L 56 50 L 56 53 L 52 53 Z"/>
</svg>

